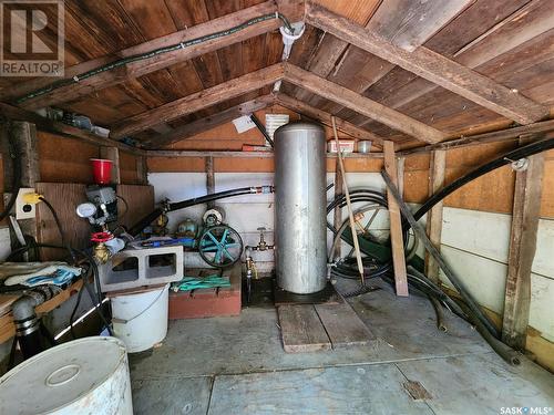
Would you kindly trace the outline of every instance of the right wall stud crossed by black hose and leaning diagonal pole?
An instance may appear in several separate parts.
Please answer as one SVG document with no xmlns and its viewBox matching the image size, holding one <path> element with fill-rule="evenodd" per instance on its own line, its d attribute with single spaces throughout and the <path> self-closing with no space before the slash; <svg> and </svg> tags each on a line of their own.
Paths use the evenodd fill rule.
<svg viewBox="0 0 554 415">
<path fill-rule="evenodd" d="M 444 186 L 444 175 L 447 168 L 447 152 L 443 149 L 431 152 L 429 163 L 429 196 Z M 442 235 L 442 209 L 443 203 L 439 201 L 428 212 L 427 235 L 431 243 L 440 251 Z M 425 252 L 425 274 L 434 282 L 439 282 L 439 264 L 429 252 Z"/>
</svg>

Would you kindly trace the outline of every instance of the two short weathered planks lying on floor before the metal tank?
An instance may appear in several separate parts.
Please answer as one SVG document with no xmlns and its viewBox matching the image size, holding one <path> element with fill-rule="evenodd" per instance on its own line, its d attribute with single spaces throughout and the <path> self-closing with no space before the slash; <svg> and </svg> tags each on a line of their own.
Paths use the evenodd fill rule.
<svg viewBox="0 0 554 415">
<path fill-rule="evenodd" d="M 287 353 L 366 345 L 375 336 L 346 302 L 280 305 L 283 347 Z"/>
</svg>

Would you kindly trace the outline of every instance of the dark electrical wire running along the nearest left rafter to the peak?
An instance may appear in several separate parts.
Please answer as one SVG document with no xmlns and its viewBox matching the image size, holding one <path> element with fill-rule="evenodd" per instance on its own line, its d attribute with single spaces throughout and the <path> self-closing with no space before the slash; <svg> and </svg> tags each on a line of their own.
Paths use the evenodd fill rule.
<svg viewBox="0 0 554 415">
<path fill-rule="evenodd" d="M 47 85 L 47 86 L 41 87 L 39 90 L 32 91 L 32 92 L 30 92 L 30 93 L 28 93 L 28 94 L 25 94 L 23 96 L 20 96 L 18 98 L 16 98 L 16 104 L 21 104 L 21 103 L 23 103 L 23 102 L 25 102 L 28 100 L 35 98 L 38 96 L 48 94 L 48 93 L 50 93 L 50 92 L 52 92 L 54 90 L 58 90 L 60 87 L 63 87 L 63 86 L 68 86 L 68 85 L 72 85 L 74 83 L 79 83 L 79 82 L 84 81 L 84 80 L 86 80 L 89 77 L 95 76 L 95 75 L 101 74 L 103 72 L 112 71 L 114 69 L 124 66 L 124 65 L 126 65 L 129 63 L 144 61 L 146 59 L 156 58 L 158 55 L 166 54 L 166 53 L 170 53 L 170 52 L 175 52 L 175 51 L 178 51 L 178 50 L 192 46 L 192 45 L 196 45 L 196 44 L 199 44 L 199 43 L 208 42 L 208 41 L 212 41 L 212 40 L 215 40 L 215 39 L 218 39 L 218 38 L 224 38 L 224 37 L 230 35 L 233 33 L 239 32 L 239 31 L 242 31 L 244 29 L 247 29 L 247 28 L 249 28 L 249 27 L 252 27 L 254 24 L 257 24 L 257 23 L 260 23 L 260 22 L 264 22 L 264 21 L 267 21 L 267 20 L 271 20 L 271 19 L 279 19 L 283 22 L 283 25 L 285 25 L 285 28 L 287 29 L 287 31 L 289 31 L 290 33 L 294 33 L 294 29 L 290 25 L 290 22 L 281 13 L 275 12 L 275 13 L 267 13 L 267 14 L 258 15 L 256 18 L 253 18 L 253 19 L 249 19 L 249 20 L 245 21 L 244 23 L 240 23 L 238 25 L 235 25 L 235 27 L 226 29 L 226 30 L 222 30 L 222 31 L 218 31 L 218 32 L 209 33 L 209 34 L 206 34 L 206 35 L 203 35 L 203 37 L 199 37 L 199 38 L 195 38 L 195 39 L 191 39 L 191 40 L 184 41 L 184 42 L 174 43 L 174 44 L 171 44 L 168 46 L 154 49 L 154 50 L 148 51 L 148 52 L 137 53 L 137 54 L 134 54 L 134 55 L 131 55 L 131 56 L 127 56 L 127 58 L 122 58 L 122 59 L 119 59 L 116 61 L 110 62 L 107 64 L 94 68 L 94 69 L 92 69 L 90 71 L 86 71 L 86 72 L 80 73 L 78 75 L 74 75 L 73 77 L 68 77 L 68 79 L 64 79 L 64 80 L 60 80 L 60 81 L 53 82 L 50 85 Z"/>
</svg>

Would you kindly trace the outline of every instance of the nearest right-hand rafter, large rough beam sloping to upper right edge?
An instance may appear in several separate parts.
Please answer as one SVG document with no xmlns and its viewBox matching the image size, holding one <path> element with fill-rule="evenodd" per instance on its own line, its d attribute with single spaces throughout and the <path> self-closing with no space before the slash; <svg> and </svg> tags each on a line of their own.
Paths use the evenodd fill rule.
<svg viewBox="0 0 554 415">
<path fill-rule="evenodd" d="M 548 115 L 545 106 L 526 98 L 515 90 L 510 90 L 427 48 L 406 51 L 321 6 L 309 2 L 306 21 L 520 124 L 531 124 Z"/>
</svg>

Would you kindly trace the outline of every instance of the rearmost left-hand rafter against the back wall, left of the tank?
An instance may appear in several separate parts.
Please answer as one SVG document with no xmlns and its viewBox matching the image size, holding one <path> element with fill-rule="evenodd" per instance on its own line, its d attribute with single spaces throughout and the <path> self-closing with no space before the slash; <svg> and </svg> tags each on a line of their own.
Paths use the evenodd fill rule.
<svg viewBox="0 0 554 415">
<path fill-rule="evenodd" d="M 141 141 L 141 144 L 143 144 L 148 149 L 161 148 L 172 143 L 193 137 L 196 134 L 228 123 L 242 115 L 248 115 L 255 111 L 263 110 L 271 105 L 274 101 L 274 95 L 258 96 L 257 98 L 232 106 L 230 108 L 222 111 L 217 114 L 209 115 L 204 118 L 196 120 L 189 124 L 176 127 L 170 133 L 152 137 L 148 141 Z"/>
</svg>

